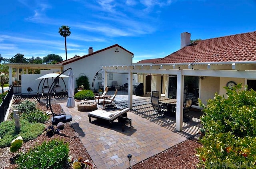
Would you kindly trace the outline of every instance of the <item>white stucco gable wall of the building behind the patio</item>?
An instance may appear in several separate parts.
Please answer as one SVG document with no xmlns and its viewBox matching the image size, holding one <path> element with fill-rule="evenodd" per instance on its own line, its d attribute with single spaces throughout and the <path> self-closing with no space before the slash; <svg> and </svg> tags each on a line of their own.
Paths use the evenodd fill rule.
<svg viewBox="0 0 256 169">
<path fill-rule="evenodd" d="M 116 52 L 119 51 L 119 52 Z M 106 65 L 131 65 L 132 64 L 132 54 L 124 51 L 120 47 L 112 47 L 110 49 L 106 49 L 99 53 L 95 53 L 94 55 L 90 55 L 78 61 L 74 61 L 67 65 L 64 65 L 64 70 L 68 69 L 69 67 L 72 68 L 74 73 L 74 80 L 79 77 L 79 75 L 86 75 L 90 82 L 90 89 L 92 87 L 92 80 L 95 74 L 102 68 L 102 66 Z M 100 73 L 102 73 L 100 71 Z M 128 83 L 126 79 L 128 74 L 120 74 L 120 73 L 113 73 L 113 80 L 109 80 L 109 74 L 107 74 L 107 85 L 112 85 L 112 81 L 118 81 L 118 85 L 124 85 L 124 83 Z M 104 73 L 102 73 L 104 76 Z M 105 77 L 104 77 L 105 78 Z M 98 82 L 104 81 L 102 80 L 95 80 L 95 89 L 98 90 Z M 76 86 L 76 82 L 75 82 Z M 77 86 L 76 86 L 77 87 Z"/>
</svg>

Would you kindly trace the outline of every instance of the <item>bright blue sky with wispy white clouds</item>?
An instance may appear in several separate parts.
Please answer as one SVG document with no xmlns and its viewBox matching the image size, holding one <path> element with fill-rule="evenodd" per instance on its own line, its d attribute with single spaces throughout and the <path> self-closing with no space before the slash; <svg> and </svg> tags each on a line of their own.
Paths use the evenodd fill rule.
<svg viewBox="0 0 256 169">
<path fill-rule="evenodd" d="M 180 49 L 180 33 L 210 39 L 256 31 L 256 0 L 2 0 L 0 54 L 68 59 L 118 43 L 133 62 Z"/>
</svg>

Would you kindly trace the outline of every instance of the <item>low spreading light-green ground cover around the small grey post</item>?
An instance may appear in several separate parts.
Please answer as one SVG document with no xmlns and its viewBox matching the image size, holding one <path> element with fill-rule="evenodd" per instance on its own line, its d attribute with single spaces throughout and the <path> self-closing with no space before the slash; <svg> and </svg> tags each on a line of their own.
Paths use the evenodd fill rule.
<svg viewBox="0 0 256 169">
<path fill-rule="evenodd" d="M 1 122 L 0 124 L 0 148 L 7 147 L 11 145 L 12 140 L 21 136 L 23 141 L 29 141 L 37 138 L 40 134 L 44 132 L 45 125 L 42 123 L 29 123 L 26 120 L 20 120 L 20 133 L 15 134 L 15 124 L 14 121 Z"/>
</svg>

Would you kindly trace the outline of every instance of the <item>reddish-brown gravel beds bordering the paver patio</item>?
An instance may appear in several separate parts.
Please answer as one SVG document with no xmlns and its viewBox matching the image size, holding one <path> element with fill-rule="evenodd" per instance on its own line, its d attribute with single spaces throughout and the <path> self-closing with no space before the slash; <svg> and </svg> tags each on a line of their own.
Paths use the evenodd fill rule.
<svg viewBox="0 0 256 169">
<path fill-rule="evenodd" d="M 45 104 L 38 103 L 38 107 L 44 112 L 49 111 L 46 109 Z M 62 108 L 59 104 L 52 104 L 52 110 L 58 114 L 61 112 Z M 46 128 L 51 126 L 51 121 L 46 123 Z M 54 126 L 54 129 L 56 126 Z M 22 145 L 20 151 L 26 152 L 33 147 L 36 143 L 42 143 L 45 140 L 52 140 L 53 138 L 62 138 L 69 143 L 69 154 L 74 158 L 82 157 L 83 160 L 89 159 L 92 163 L 93 168 L 97 169 L 94 162 L 90 159 L 90 155 L 87 153 L 86 148 L 80 141 L 78 134 L 72 128 L 70 123 L 66 123 L 64 130 L 60 131 L 60 134 L 54 134 L 52 137 L 46 136 L 46 134 L 40 135 L 35 140 L 28 141 Z M 195 140 L 186 140 L 166 151 L 154 155 L 136 165 L 132 166 L 132 169 L 196 169 L 196 164 L 199 162 L 198 157 L 196 157 L 196 148 L 202 146 Z M 0 169 L 15 169 L 17 166 L 14 163 L 17 153 L 11 153 L 10 147 L 5 147 L 0 149 Z M 67 165 L 64 169 L 71 169 L 70 165 Z"/>
</svg>

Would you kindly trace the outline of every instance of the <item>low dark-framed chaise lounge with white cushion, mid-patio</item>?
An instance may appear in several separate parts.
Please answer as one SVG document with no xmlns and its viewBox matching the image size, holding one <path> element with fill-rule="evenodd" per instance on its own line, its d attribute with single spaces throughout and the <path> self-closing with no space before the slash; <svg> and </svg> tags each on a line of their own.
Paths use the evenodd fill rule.
<svg viewBox="0 0 256 169">
<path fill-rule="evenodd" d="M 91 121 L 91 118 L 96 119 L 104 119 L 109 122 L 109 127 L 112 128 L 112 124 L 114 120 L 118 120 L 118 123 L 122 124 L 122 131 L 124 132 L 125 124 L 130 124 L 132 126 L 132 119 L 127 118 L 127 112 L 129 111 L 129 108 L 125 108 L 123 110 L 116 110 L 116 111 L 106 111 L 106 110 L 94 110 L 90 113 L 88 113 L 89 122 Z"/>
</svg>

